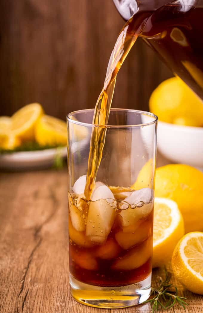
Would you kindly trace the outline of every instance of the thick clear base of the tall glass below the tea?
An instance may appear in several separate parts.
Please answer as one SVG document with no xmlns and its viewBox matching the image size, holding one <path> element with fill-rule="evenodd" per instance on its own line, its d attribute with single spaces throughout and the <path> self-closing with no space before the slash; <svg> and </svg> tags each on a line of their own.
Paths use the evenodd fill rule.
<svg viewBox="0 0 203 313">
<path fill-rule="evenodd" d="M 82 283 L 69 273 L 70 292 L 79 303 L 99 308 L 125 308 L 146 301 L 151 291 L 151 274 L 139 283 L 99 287 Z"/>
</svg>

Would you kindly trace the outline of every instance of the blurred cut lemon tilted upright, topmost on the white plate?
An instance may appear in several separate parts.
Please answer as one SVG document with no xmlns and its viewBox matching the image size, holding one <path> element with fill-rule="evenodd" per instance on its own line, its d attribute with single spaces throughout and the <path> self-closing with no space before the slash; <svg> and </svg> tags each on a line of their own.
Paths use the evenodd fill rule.
<svg viewBox="0 0 203 313">
<path fill-rule="evenodd" d="M 34 140 L 34 128 L 43 108 L 39 103 L 25 105 L 11 117 L 11 131 L 23 140 Z"/>
</svg>

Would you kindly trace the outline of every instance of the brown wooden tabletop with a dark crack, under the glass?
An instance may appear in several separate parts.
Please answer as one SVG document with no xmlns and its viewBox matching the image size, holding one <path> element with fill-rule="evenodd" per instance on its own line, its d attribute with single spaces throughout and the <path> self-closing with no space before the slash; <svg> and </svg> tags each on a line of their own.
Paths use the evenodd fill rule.
<svg viewBox="0 0 203 313">
<path fill-rule="evenodd" d="M 158 165 L 166 163 L 158 157 Z M 0 312 L 151 312 L 149 304 L 108 310 L 71 298 L 67 207 L 66 169 L 0 174 Z M 152 285 L 162 274 L 163 269 L 153 270 Z M 203 296 L 185 290 L 174 277 L 172 282 L 187 297 L 186 312 L 203 312 Z"/>
</svg>

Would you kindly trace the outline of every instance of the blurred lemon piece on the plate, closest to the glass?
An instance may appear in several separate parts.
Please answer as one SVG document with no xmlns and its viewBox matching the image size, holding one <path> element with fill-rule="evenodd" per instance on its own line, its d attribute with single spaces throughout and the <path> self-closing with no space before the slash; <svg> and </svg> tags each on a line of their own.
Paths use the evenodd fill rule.
<svg viewBox="0 0 203 313">
<path fill-rule="evenodd" d="M 67 127 L 64 121 L 43 115 L 35 128 L 35 139 L 41 145 L 67 145 Z"/>
</svg>

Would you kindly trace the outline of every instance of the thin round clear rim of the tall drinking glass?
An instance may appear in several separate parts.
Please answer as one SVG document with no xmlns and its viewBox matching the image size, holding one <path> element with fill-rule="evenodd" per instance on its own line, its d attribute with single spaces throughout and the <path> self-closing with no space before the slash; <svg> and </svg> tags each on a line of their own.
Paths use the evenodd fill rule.
<svg viewBox="0 0 203 313">
<path fill-rule="evenodd" d="M 73 116 L 76 113 L 80 113 L 80 112 L 90 112 L 90 111 L 94 111 L 94 109 L 84 109 L 84 110 L 77 110 L 77 111 L 73 111 L 70 112 L 67 116 L 66 119 L 73 123 L 73 124 L 77 124 L 80 126 L 91 126 L 91 127 L 106 127 L 106 128 L 128 128 L 128 127 L 142 127 L 142 126 L 149 126 L 149 125 L 153 125 L 156 124 L 158 121 L 158 117 L 157 115 L 155 115 L 154 113 L 151 112 L 147 112 L 147 111 L 142 111 L 142 110 L 134 110 L 134 109 L 120 109 L 120 108 L 111 108 L 110 111 L 126 111 L 126 112 L 134 112 L 134 113 L 141 113 L 140 115 L 148 115 L 154 118 L 153 121 L 149 122 L 149 123 L 142 123 L 142 124 L 133 124 L 133 125 L 96 125 L 96 124 L 90 124 L 90 123 L 85 123 L 85 122 L 80 122 L 80 121 L 76 121 L 76 120 L 72 120 L 71 116 Z"/>
</svg>

